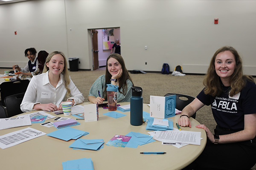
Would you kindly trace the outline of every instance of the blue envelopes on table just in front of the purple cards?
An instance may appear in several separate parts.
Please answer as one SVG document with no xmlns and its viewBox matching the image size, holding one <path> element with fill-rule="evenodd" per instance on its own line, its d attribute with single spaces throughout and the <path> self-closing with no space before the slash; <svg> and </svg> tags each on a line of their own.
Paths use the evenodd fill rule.
<svg viewBox="0 0 256 170">
<path fill-rule="evenodd" d="M 83 130 L 74 129 L 72 127 L 65 127 L 48 133 L 47 136 L 52 136 L 54 138 L 58 138 L 64 141 L 69 141 L 70 139 L 76 140 L 81 136 L 85 136 L 87 134 L 89 133 Z"/>
</svg>

